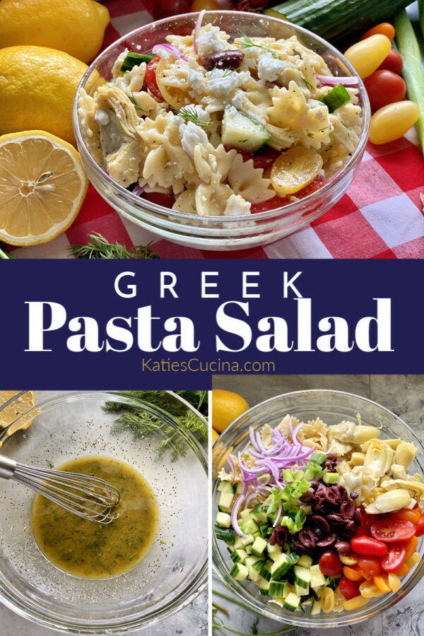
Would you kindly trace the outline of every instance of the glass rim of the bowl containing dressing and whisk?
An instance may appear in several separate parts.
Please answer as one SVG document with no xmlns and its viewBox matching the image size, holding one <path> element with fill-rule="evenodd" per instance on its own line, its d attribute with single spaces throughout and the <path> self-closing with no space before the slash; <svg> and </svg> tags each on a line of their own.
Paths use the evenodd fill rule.
<svg viewBox="0 0 424 636">
<path fill-rule="evenodd" d="M 192 412 L 196 413 L 197 416 L 202 420 L 202 422 L 207 426 L 206 419 L 204 416 L 196 411 L 196 409 L 189 404 L 184 398 L 175 394 L 173 391 L 165 391 L 168 394 L 171 394 L 179 401 L 181 401 L 184 406 L 187 406 Z M 37 402 L 34 406 L 32 406 L 26 413 L 30 413 L 31 411 L 36 411 L 37 408 L 46 408 L 55 407 L 61 404 L 66 404 L 69 400 L 77 398 L 78 401 L 83 401 L 84 399 L 90 399 L 91 397 L 99 397 L 105 396 L 109 397 L 114 396 L 114 399 L 117 401 L 122 400 L 123 403 L 127 404 L 140 404 L 143 408 L 147 410 L 155 411 L 155 414 L 159 414 L 165 418 L 167 424 L 170 424 L 172 428 L 175 428 L 179 432 L 180 435 L 184 437 L 189 446 L 192 448 L 196 457 L 199 459 L 199 462 L 206 473 L 206 478 L 208 476 L 208 454 L 205 449 L 201 446 L 199 440 L 192 435 L 191 432 L 182 430 L 179 428 L 177 419 L 175 416 L 172 416 L 171 413 L 167 413 L 163 408 L 156 406 L 148 401 L 143 401 L 142 399 L 136 398 L 134 396 L 122 395 L 118 391 L 54 391 L 54 396 L 49 396 L 49 398 L 45 399 L 45 401 L 41 400 Z M 23 413 L 25 415 L 26 413 Z M 20 416 L 21 417 L 21 416 Z M 18 433 L 18 431 L 16 432 Z M 13 433 L 13 435 L 16 435 Z M 50 608 L 45 608 L 44 606 L 41 608 L 37 601 L 33 601 L 32 599 L 28 599 L 22 593 L 11 594 L 6 586 L 4 586 L 3 582 L 0 581 L 0 602 L 3 603 L 7 608 L 11 609 L 14 613 L 18 614 L 18 616 L 22 616 L 23 618 L 30 620 L 33 623 L 38 625 L 42 625 L 44 627 L 57 630 L 59 632 L 69 632 L 75 634 L 97 634 L 104 635 L 108 634 L 123 634 L 125 632 L 131 632 L 136 629 L 146 628 L 148 625 L 153 625 L 158 623 L 163 618 L 168 618 L 178 611 L 182 610 L 182 608 L 186 607 L 189 603 L 191 603 L 196 596 L 198 596 L 201 591 L 206 588 L 208 584 L 208 554 L 206 553 L 206 559 L 204 563 L 199 567 L 198 572 L 196 572 L 189 584 L 183 582 L 182 589 L 175 594 L 175 597 L 167 601 L 165 604 L 163 601 L 159 603 L 159 606 L 153 606 L 148 608 L 146 613 L 143 616 L 140 616 L 140 611 L 136 613 L 132 613 L 130 617 L 118 617 L 118 618 L 107 618 L 107 619 L 83 619 L 69 616 L 60 616 L 58 612 L 52 611 Z M 143 611 L 142 611 L 143 612 Z"/>
</svg>

